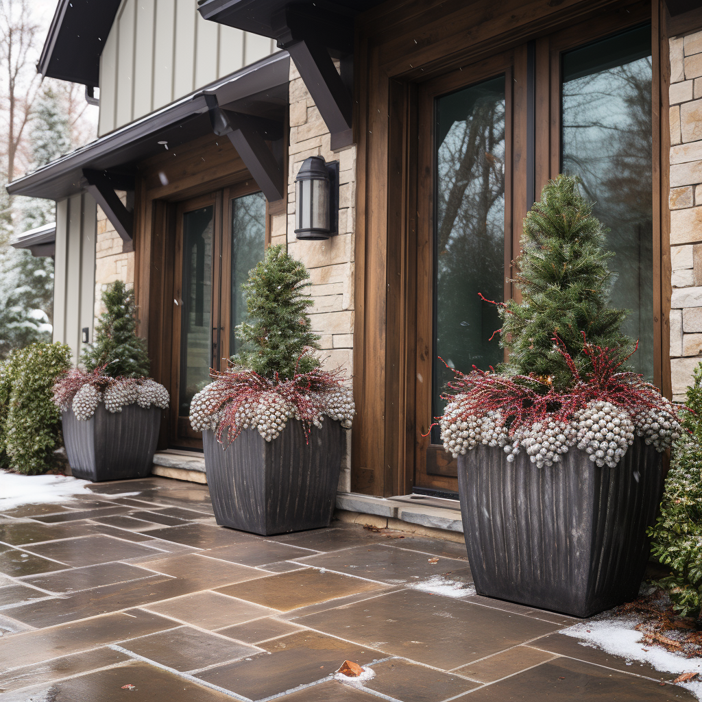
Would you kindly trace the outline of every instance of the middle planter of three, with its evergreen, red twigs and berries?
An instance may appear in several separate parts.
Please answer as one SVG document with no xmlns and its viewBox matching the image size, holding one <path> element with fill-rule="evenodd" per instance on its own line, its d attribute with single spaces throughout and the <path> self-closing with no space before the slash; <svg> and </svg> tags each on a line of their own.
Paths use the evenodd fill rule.
<svg viewBox="0 0 702 702">
<path fill-rule="evenodd" d="M 354 407 L 341 372 L 314 356 L 309 277 L 280 246 L 266 251 L 244 285 L 241 352 L 192 399 L 218 524 L 281 534 L 331 520 Z"/>
</svg>

